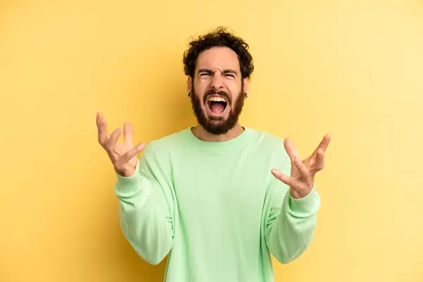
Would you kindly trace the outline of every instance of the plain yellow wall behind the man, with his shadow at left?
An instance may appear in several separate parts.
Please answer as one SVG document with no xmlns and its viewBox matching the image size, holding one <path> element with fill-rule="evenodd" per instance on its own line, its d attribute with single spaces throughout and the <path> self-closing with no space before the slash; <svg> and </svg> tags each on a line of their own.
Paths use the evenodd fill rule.
<svg viewBox="0 0 423 282">
<path fill-rule="evenodd" d="M 333 135 L 316 239 L 276 281 L 423 281 L 419 0 L 1 1 L 0 281 L 161 281 L 121 233 L 95 114 L 135 142 L 193 125 L 182 54 L 217 25 L 255 59 L 244 125 L 303 156 Z"/>
</svg>

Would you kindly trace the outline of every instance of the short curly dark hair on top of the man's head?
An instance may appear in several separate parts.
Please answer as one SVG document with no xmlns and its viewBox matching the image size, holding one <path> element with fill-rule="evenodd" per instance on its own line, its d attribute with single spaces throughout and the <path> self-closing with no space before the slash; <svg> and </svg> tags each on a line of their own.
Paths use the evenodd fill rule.
<svg viewBox="0 0 423 282">
<path fill-rule="evenodd" d="M 194 78 L 195 63 L 198 55 L 212 47 L 228 47 L 238 54 L 240 70 L 243 78 L 251 78 L 254 71 L 252 56 L 248 51 L 248 44 L 240 37 L 236 37 L 228 32 L 226 27 L 217 27 L 206 35 L 200 35 L 190 42 L 190 48 L 183 54 L 183 64 L 185 75 Z"/>
</svg>

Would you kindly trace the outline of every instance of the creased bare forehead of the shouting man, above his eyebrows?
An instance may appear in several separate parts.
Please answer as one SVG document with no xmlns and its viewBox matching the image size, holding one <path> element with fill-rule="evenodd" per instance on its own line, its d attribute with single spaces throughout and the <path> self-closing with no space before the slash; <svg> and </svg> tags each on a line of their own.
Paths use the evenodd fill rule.
<svg viewBox="0 0 423 282">
<path fill-rule="evenodd" d="M 238 55 L 231 48 L 228 47 L 213 47 L 202 51 L 197 58 L 196 68 L 220 68 L 240 70 L 240 62 Z"/>
</svg>

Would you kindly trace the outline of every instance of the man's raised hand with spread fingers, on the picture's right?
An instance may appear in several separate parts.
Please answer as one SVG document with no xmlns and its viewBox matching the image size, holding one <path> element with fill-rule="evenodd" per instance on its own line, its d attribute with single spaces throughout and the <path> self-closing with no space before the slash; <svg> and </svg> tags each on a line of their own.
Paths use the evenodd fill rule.
<svg viewBox="0 0 423 282">
<path fill-rule="evenodd" d="M 324 136 L 317 149 L 314 150 L 307 159 L 301 161 L 300 156 L 295 151 L 291 140 L 286 139 L 283 142 L 286 152 L 291 160 L 290 176 L 278 171 L 276 168 L 271 170 L 271 173 L 290 187 L 290 195 L 295 199 L 301 199 L 308 195 L 314 185 L 314 175 L 317 171 L 324 168 L 324 153 L 326 152 L 331 135 Z"/>
</svg>

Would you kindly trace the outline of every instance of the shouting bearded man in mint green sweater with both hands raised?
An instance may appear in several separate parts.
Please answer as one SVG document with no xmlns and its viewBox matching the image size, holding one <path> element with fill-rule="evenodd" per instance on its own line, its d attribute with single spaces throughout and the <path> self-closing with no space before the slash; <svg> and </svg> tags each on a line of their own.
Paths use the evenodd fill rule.
<svg viewBox="0 0 423 282">
<path fill-rule="evenodd" d="M 314 236 L 314 175 L 330 136 L 301 160 L 289 139 L 240 125 L 254 68 L 247 49 L 223 28 L 190 42 L 195 127 L 134 147 L 130 123 L 118 144 L 121 129 L 109 135 L 97 114 L 125 238 L 150 264 L 168 255 L 165 281 L 274 281 L 270 254 L 291 262 Z"/>
</svg>

